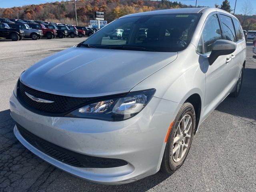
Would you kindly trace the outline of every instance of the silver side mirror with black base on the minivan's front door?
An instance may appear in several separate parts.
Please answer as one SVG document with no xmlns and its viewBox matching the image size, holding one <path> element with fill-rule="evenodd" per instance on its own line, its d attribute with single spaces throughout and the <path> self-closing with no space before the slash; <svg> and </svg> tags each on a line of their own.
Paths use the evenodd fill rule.
<svg viewBox="0 0 256 192">
<path fill-rule="evenodd" d="M 212 65 L 219 56 L 232 54 L 235 50 L 235 42 L 229 40 L 216 40 L 212 45 L 212 52 L 208 58 L 209 64 Z"/>
</svg>

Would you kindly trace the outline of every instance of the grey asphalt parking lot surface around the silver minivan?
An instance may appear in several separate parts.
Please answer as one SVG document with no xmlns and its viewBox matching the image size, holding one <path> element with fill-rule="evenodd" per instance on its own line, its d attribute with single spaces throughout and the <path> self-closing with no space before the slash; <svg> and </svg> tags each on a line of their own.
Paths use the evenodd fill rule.
<svg viewBox="0 0 256 192">
<path fill-rule="evenodd" d="M 104 186 L 44 162 L 13 134 L 9 98 L 22 71 L 85 38 L 0 40 L 0 192 L 4 191 L 256 191 L 256 58 L 252 42 L 238 98 L 226 98 L 202 123 L 184 165 L 137 182 Z"/>
</svg>

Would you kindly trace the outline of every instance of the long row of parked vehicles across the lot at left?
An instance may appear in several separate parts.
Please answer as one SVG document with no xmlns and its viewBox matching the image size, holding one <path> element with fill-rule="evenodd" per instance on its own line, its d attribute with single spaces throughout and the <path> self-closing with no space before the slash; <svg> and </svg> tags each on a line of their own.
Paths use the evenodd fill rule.
<svg viewBox="0 0 256 192">
<path fill-rule="evenodd" d="M 72 26 L 53 22 L 43 22 L 34 20 L 7 19 L 0 18 L 0 38 L 11 39 L 13 41 L 30 38 L 38 40 L 40 38 L 65 38 L 91 36 L 98 29 L 84 26 Z"/>
</svg>

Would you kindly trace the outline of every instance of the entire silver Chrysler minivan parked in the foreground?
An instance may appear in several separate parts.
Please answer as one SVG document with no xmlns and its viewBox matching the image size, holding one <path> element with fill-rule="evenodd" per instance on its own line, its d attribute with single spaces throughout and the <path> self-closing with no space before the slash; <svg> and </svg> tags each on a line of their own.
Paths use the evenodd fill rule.
<svg viewBox="0 0 256 192">
<path fill-rule="evenodd" d="M 111 38 L 120 29 L 127 37 Z M 242 27 L 218 8 L 123 16 L 21 74 L 10 98 L 14 134 L 93 182 L 172 174 L 200 124 L 238 96 L 245 63 Z"/>
</svg>

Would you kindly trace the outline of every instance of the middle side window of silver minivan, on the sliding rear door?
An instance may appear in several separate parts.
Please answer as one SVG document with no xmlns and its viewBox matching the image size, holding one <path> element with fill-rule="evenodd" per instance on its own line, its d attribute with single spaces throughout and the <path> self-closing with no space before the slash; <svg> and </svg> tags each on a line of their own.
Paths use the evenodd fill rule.
<svg viewBox="0 0 256 192">
<path fill-rule="evenodd" d="M 236 34 L 235 34 L 232 18 L 226 15 L 220 14 L 220 21 L 222 23 L 226 40 L 236 42 Z"/>
</svg>

